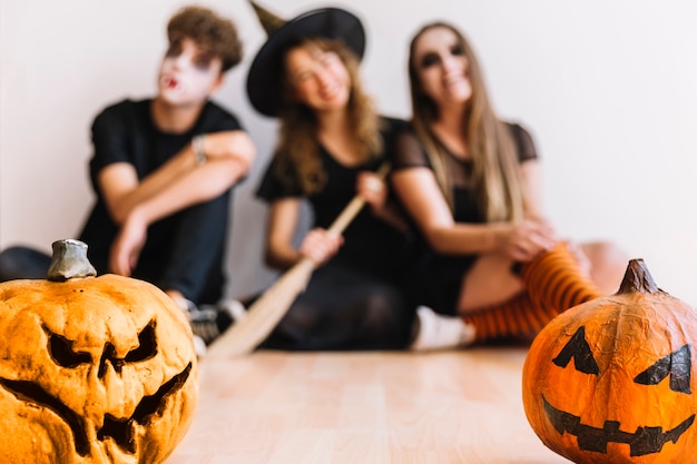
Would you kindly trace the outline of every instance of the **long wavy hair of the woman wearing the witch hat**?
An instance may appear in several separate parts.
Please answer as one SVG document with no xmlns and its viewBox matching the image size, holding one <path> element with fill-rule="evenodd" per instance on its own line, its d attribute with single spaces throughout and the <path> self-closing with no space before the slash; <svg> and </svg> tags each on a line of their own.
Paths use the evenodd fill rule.
<svg viewBox="0 0 697 464">
<path fill-rule="evenodd" d="M 354 129 L 354 139 L 363 159 L 377 157 L 383 148 L 380 136 L 380 118 L 373 100 L 365 93 L 361 86 L 359 73 L 359 59 L 342 42 L 328 39 L 304 38 L 289 43 L 286 52 L 297 47 L 316 48 L 323 52 L 332 51 L 338 55 L 351 78 L 351 97 L 346 111 Z M 295 171 L 298 175 L 300 186 L 304 195 L 316 194 L 326 184 L 326 174 L 322 169 L 318 156 L 318 125 L 317 118 L 307 106 L 297 102 L 293 96 L 292 82 L 283 68 L 281 79 L 281 109 L 278 117 L 281 128 L 276 146 L 276 174 L 281 179 L 291 180 L 287 176 Z"/>
</svg>

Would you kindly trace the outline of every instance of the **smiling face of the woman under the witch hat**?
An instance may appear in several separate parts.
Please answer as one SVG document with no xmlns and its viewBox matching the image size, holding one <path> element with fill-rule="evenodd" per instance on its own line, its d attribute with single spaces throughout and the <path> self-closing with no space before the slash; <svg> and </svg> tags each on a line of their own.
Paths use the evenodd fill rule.
<svg viewBox="0 0 697 464">
<path fill-rule="evenodd" d="M 351 96 L 351 76 L 333 51 L 302 46 L 285 56 L 285 69 L 295 98 L 315 111 L 344 110 Z"/>
</svg>

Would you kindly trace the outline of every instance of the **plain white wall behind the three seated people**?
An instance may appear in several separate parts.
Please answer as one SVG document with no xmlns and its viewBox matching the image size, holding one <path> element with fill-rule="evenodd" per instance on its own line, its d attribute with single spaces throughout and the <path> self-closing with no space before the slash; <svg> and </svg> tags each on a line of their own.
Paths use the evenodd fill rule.
<svg viewBox="0 0 697 464">
<path fill-rule="evenodd" d="M 165 24 L 181 0 L 0 0 L 0 247 L 49 249 L 73 236 L 92 200 L 89 124 L 105 105 L 154 92 Z M 291 18 L 330 4 L 259 0 Z M 254 199 L 275 122 L 244 95 L 264 40 L 244 0 L 205 6 L 233 17 L 246 57 L 217 100 L 259 159 L 236 194 L 229 293 L 261 288 L 265 207 Z M 689 0 L 352 0 L 369 36 L 363 75 L 384 112 L 409 113 L 406 46 L 448 19 L 474 43 L 499 112 L 533 134 L 547 209 L 573 239 L 607 238 L 644 257 L 667 292 L 697 305 L 697 3 Z M 396 7 L 396 8 L 395 8 Z"/>
</svg>

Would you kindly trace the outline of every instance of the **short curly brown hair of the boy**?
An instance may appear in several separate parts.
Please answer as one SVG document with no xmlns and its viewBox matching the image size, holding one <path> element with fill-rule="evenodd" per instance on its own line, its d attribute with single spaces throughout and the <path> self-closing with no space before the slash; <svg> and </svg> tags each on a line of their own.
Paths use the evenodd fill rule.
<svg viewBox="0 0 697 464">
<path fill-rule="evenodd" d="M 229 19 L 203 7 L 184 7 L 167 24 L 169 43 L 189 38 L 198 47 L 223 61 L 223 72 L 242 61 L 242 41 Z"/>
</svg>

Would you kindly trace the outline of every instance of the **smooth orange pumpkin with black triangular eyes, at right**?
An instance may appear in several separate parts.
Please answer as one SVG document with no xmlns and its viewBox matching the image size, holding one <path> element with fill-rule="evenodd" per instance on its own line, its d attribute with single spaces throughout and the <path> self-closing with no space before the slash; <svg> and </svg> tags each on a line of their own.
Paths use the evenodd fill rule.
<svg viewBox="0 0 697 464">
<path fill-rule="evenodd" d="M 538 334 L 523 405 L 542 442 L 575 463 L 697 463 L 697 313 L 631 260 L 617 294 Z"/>
</svg>

